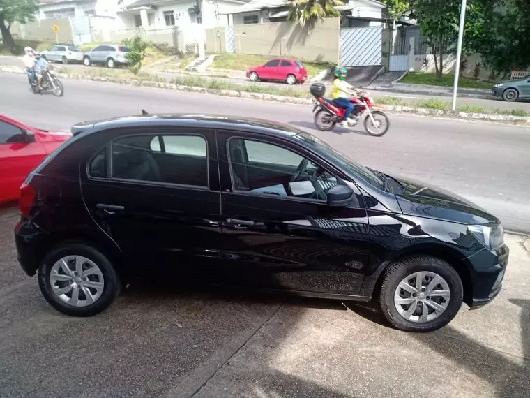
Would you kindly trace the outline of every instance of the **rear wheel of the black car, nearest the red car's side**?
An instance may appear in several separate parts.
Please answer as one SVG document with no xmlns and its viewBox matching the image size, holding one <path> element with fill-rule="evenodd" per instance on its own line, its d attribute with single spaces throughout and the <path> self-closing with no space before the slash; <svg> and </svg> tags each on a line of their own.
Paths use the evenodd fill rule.
<svg viewBox="0 0 530 398">
<path fill-rule="evenodd" d="M 71 281 L 66 281 L 67 274 L 63 270 L 60 271 L 60 274 L 56 273 L 57 269 L 62 269 L 61 265 L 55 267 L 56 264 L 60 264 L 61 259 L 77 257 L 84 259 L 82 260 L 82 269 L 84 269 L 85 272 L 86 265 L 89 263 L 95 265 L 98 270 L 98 273 L 88 274 L 87 277 L 81 279 L 90 278 L 92 283 L 103 283 L 103 288 L 101 288 L 101 290 L 91 288 L 90 295 L 93 294 L 92 297 L 97 297 L 91 304 L 86 304 L 86 302 L 77 306 L 75 304 L 69 304 L 69 302 L 73 300 L 73 290 L 76 287 L 73 287 L 63 294 L 58 292 L 58 290 L 63 290 L 64 286 L 70 286 L 68 283 L 74 283 L 73 278 L 75 277 L 72 277 Z M 68 269 L 70 271 L 74 272 L 73 270 L 77 270 L 75 260 L 66 260 L 66 263 L 68 264 Z M 93 267 L 90 267 L 89 269 L 92 270 Z M 52 270 L 54 270 L 53 274 Z M 94 277 L 94 275 L 96 276 Z M 52 286 L 52 283 L 54 283 L 54 287 Z M 38 286 L 47 302 L 49 302 L 57 311 L 70 316 L 93 316 L 104 311 L 110 306 L 110 304 L 112 304 L 112 302 L 114 302 L 119 295 L 121 285 L 116 270 L 114 270 L 109 259 L 103 253 L 84 243 L 66 242 L 56 246 L 55 249 L 52 249 L 52 251 L 45 256 L 43 263 L 41 263 L 38 269 Z M 76 285 L 72 284 L 72 286 Z M 84 288 L 84 286 L 83 288 L 77 286 L 79 293 L 77 293 L 76 297 L 78 298 L 76 301 L 78 303 L 82 300 L 89 299 L 84 293 Z M 70 295 L 70 297 L 68 297 L 68 295 Z"/>
</svg>

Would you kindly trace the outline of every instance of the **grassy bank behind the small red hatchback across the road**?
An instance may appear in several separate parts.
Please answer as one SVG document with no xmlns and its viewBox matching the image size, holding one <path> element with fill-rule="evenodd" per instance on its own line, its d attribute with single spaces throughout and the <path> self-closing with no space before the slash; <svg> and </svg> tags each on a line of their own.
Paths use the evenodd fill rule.
<svg viewBox="0 0 530 398">
<path fill-rule="evenodd" d="M 231 54 L 225 52 L 215 56 L 211 68 L 232 69 L 234 71 L 246 71 L 252 66 L 263 65 L 274 57 L 264 57 L 263 55 L 252 54 Z M 315 76 L 317 73 L 327 68 L 335 68 L 336 64 L 330 62 L 303 61 L 300 60 L 308 70 L 308 75 Z"/>
</svg>

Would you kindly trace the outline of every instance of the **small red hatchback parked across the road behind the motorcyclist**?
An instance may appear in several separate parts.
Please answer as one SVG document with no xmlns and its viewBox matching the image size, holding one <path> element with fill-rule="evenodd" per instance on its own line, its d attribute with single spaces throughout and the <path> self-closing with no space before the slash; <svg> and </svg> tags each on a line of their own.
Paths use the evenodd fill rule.
<svg viewBox="0 0 530 398">
<path fill-rule="evenodd" d="M 252 82 L 258 80 L 283 80 L 287 84 L 303 83 L 308 80 L 308 71 L 300 61 L 295 59 L 275 58 L 262 66 L 250 68 L 247 78 Z"/>
</svg>

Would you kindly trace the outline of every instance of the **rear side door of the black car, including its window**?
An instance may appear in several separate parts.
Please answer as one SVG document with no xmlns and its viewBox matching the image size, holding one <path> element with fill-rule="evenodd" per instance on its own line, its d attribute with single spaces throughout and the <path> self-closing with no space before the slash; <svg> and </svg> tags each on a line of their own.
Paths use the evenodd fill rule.
<svg viewBox="0 0 530 398">
<path fill-rule="evenodd" d="M 142 272 L 207 275 L 203 267 L 221 256 L 215 131 L 144 128 L 109 136 L 82 167 L 92 218 Z"/>
</svg>

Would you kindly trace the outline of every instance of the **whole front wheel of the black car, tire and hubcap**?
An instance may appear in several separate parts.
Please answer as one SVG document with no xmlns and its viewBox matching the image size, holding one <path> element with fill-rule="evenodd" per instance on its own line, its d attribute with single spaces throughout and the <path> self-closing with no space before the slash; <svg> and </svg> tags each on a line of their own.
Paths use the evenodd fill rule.
<svg viewBox="0 0 530 398">
<path fill-rule="evenodd" d="M 412 256 L 391 265 L 381 285 L 381 311 L 406 332 L 433 332 L 455 318 L 462 306 L 460 276 L 446 261 Z"/>
</svg>

